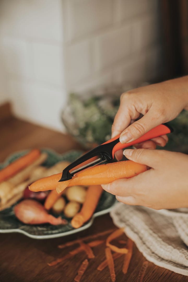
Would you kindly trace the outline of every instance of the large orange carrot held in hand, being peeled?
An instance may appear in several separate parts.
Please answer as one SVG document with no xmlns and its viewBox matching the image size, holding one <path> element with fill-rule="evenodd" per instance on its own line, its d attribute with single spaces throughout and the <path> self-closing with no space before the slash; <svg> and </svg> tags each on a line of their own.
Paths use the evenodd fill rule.
<svg viewBox="0 0 188 282">
<path fill-rule="evenodd" d="M 101 164 L 80 172 L 70 180 L 59 183 L 62 173 L 39 179 L 31 184 L 29 189 L 34 192 L 56 189 L 60 193 L 68 186 L 107 184 L 116 179 L 133 177 L 147 169 L 147 166 L 137 164 L 131 160 Z"/>
</svg>

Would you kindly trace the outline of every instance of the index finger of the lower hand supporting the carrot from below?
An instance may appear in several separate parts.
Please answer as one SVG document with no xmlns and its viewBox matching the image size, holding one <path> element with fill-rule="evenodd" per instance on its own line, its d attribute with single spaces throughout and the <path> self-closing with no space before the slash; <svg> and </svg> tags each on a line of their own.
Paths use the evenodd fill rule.
<svg viewBox="0 0 188 282">
<path fill-rule="evenodd" d="M 113 195 L 130 196 L 133 191 L 131 186 L 127 185 L 127 182 L 129 182 L 129 179 L 118 179 L 109 184 L 102 184 L 101 186 L 105 191 Z"/>
</svg>

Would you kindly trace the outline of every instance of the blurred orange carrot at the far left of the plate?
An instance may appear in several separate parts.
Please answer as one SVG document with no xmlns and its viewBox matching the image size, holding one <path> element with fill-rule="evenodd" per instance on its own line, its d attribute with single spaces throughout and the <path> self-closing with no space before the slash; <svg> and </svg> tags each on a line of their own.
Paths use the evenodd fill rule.
<svg viewBox="0 0 188 282">
<path fill-rule="evenodd" d="M 0 171 L 0 182 L 4 181 L 11 176 L 15 175 L 21 169 L 25 168 L 29 164 L 31 164 L 34 160 L 36 160 L 40 155 L 40 151 L 38 149 L 31 150 L 25 156 L 18 158 L 5 168 L 1 169 Z"/>
</svg>

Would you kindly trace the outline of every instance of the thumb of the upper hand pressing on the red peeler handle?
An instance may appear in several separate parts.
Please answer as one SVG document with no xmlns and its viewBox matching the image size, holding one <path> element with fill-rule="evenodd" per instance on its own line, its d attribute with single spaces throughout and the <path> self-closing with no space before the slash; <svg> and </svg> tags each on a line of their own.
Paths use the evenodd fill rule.
<svg viewBox="0 0 188 282">
<path fill-rule="evenodd" d="M 122 144 L 131 142 L 160 124 L 160 120 L 155 118 L 151 111 L 148 111 L 140 120 L 137 120 L 123 130 L 120 135 L 120 142 Z"/>
</svg>

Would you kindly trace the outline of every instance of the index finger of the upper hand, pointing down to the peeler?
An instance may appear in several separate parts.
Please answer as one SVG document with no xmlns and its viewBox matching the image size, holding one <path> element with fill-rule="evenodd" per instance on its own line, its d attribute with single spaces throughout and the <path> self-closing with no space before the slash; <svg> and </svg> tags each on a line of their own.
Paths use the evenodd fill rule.
<svg viewBox="0 0 188 282">
<path fill-rule="evenodd" d="M 114 138 L 116 135 L 119 135 L 127 126 L 129 126 L 130 122 L 130 115 L 127 113 L 127 111 L 125 111 L 123 104 L 120 103 L 120 107 L 112 124 L 112 138 Z"/>
</svg>

